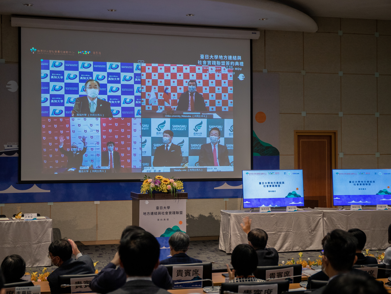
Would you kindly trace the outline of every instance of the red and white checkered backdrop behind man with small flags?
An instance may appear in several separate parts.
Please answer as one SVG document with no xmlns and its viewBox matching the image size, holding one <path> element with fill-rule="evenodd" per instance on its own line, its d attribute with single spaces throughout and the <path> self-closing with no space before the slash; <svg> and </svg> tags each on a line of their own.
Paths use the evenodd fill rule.
<svg viewBox="0 0 391 294">
<path fill-rule="evenodd" d="M 233 111 L 232 70 L 221 66 L 158 63 L 141 64 L 142 110 L 158 110 L 158 105 L 163 110 L 175 110 L 190 79 L 197 81 L 197 92 L 204 97 L 208 111 Z M 170 103 L 164 101 L 164 92 L 169 95 Z M 158 100 L 150 104 L 151 93 L 157 93 Z"/>
</svg>

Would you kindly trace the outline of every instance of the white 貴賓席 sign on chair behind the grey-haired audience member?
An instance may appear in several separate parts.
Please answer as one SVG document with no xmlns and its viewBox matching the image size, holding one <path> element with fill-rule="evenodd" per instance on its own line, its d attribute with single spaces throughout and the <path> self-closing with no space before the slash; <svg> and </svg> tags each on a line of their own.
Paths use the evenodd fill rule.
<svg viewBox="0 0 391 294">
<path fill-rule="evenodd" d="M 172 267 L 172 281 L 174 281 L 173 289 L 185 289 L 185 288 L 201 288 L 203 266 L 195 267 Z M 194 281 L 194 283 L 175 284 L 176 282 Z"/>
</svg>

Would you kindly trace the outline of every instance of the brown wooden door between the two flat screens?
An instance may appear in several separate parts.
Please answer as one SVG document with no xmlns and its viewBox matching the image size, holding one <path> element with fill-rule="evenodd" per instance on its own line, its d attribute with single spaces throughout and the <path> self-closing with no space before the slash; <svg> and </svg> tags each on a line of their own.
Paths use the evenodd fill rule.
<svg viewBox="0 0 391 294">
<path fill-rule="evenodd" d="M 297 168 L 303 170 L 304 207 L 332 205 L 332 136 L 298 135 Z"/>
</svg>

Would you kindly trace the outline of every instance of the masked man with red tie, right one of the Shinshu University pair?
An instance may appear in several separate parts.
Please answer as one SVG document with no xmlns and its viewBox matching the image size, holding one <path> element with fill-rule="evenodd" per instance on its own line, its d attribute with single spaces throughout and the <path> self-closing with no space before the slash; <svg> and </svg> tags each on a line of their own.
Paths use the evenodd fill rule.
<svg viewBox="0 0 391 294">
<path fill-rule="evenodd" d="M 229 166 L 228 149 L 219 144 L 220 129 L 212 128 L 209 131 L 210 143 L 203 144 L 199 150 L 199 166 Z"/>
</svg>

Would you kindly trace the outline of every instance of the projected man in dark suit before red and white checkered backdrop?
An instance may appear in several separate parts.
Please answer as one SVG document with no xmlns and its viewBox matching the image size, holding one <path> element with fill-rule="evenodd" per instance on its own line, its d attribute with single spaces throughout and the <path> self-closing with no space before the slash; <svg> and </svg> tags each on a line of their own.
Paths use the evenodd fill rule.
<svg viewBox="0 0 391 294">
<path fill-rule="evenodd" d="M 206 112 L 204 97 L 197 92 L 197 81 L 191 79 L 187 85 L 188 90 L 179 97 L 176 110 Z"/>
</svg>

